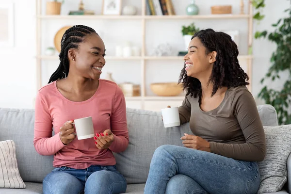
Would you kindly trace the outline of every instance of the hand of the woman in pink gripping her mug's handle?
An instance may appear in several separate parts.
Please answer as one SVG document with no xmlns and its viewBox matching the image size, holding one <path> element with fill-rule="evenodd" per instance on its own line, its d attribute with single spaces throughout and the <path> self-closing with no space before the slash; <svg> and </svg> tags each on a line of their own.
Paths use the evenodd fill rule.
<svg viewBox="0 0 291 194">
<path fill-rule="evenodd" d="M 71 143 L 76 138 L 76 135 L 73 134 L 75 129 L 72 123 L 73 120 L 67 121 L 60 128 L 60 139 L 64 145 Z"/>
</svg>

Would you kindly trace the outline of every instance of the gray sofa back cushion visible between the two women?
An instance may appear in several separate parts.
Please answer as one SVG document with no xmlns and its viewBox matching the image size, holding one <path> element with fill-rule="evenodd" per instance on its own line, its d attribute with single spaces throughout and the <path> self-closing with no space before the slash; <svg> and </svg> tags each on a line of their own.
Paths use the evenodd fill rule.
<svg viewBox="0 0 291 194">
<path fill-rule="evenodd" d="M 149 164 L 155 149 L 169 144 L 183 146 L 180 137 L 190 133 L 189 123 L 180 127 L 164 128 L 160 112 L 127 108 L 129 146 L 115 154 L 116 167 L 127 182 L 146 183 Z"/>
</svg>

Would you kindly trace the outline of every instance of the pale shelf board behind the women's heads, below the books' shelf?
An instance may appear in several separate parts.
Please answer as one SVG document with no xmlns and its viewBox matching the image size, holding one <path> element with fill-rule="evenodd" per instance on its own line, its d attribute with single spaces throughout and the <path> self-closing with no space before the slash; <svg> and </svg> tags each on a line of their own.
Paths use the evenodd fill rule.
<svg viewBox="0 0 291 194">
<path fill-rule="evenodd" d="M 41 55 L 37 57 L 38 59 L 43 59 L 43 60 L 59 60 L 59 56 L 46 56 L 46 55 Z M 239 60 L 242 59 L 252 59 L 252 55 L 240 55 L 238 57 Z M 145 56 L 145 57 L 114 57 L 114 56 L 106 56 L 105 60 L 183 60 L 183 56 Z"/>
</svg>

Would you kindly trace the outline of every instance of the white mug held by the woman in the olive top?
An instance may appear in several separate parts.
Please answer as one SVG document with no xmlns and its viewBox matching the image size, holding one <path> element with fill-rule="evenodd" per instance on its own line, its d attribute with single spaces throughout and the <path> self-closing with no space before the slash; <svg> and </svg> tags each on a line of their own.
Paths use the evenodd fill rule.
<svg viewBox="0 0 291 194">
<path fill-rule="evenodd" d="M 180 118 L 178 107 L 162 109 L 162 120 L 165 128 L 179 126 Z"/>
</svg>

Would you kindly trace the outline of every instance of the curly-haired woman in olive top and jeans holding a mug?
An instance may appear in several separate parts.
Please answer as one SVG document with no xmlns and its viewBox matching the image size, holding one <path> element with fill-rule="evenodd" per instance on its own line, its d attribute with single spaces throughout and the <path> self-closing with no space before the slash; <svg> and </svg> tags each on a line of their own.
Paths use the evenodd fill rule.
<svg viewBox="0 0 291 194">
<path fill-rule="evenodd" d="M 265 134 L 238 54 L 224 32 L 192 37 L 179 79 L 187 91 L 179 116 L 194 135 L 181 137 L 184 147 L 156 149 L 145 194 L 257 193 Z"/>
</svg>

